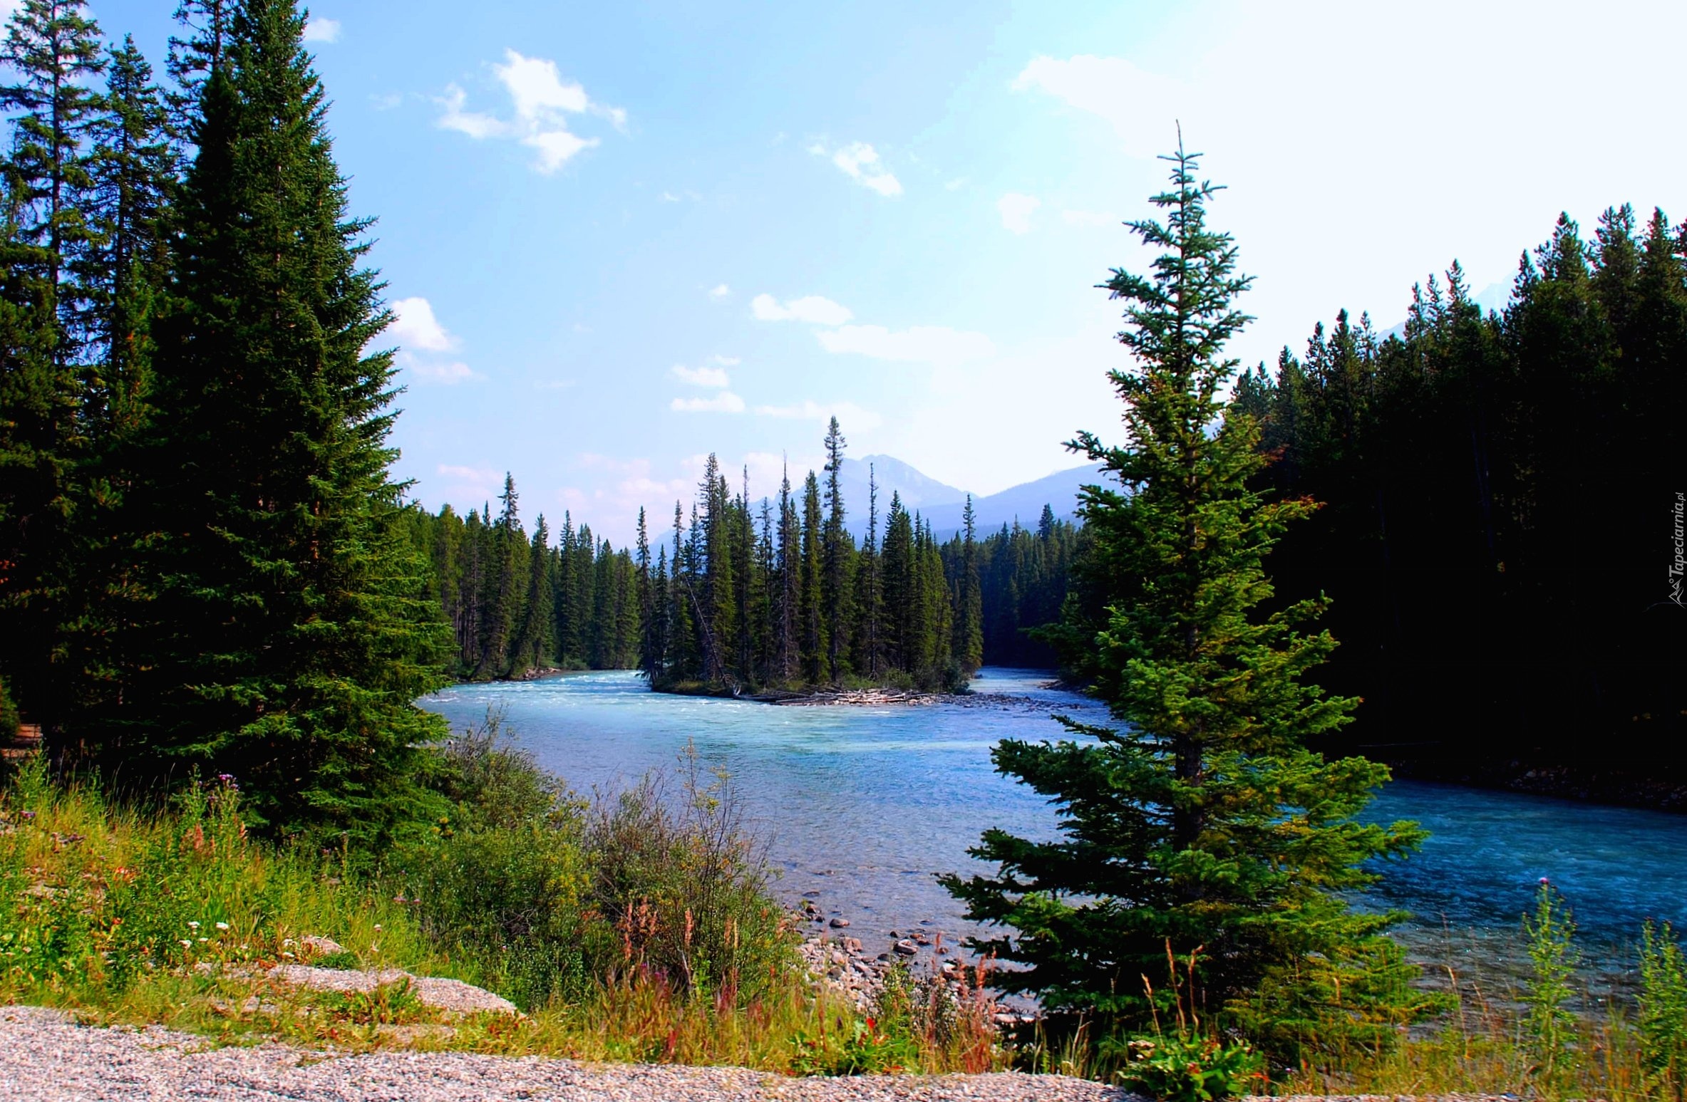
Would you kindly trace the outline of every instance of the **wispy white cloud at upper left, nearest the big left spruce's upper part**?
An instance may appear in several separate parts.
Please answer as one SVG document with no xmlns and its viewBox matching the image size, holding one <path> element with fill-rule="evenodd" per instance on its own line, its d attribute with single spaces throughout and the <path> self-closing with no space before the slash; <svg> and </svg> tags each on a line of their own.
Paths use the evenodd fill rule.
<svg viewBox="0 0 1687 1102">
<path fill-rule="evenodd" d="M 457 84 L 447 84 L 445 94 L 439 99 L 444 108 L 439 125 L 471 138 L 516 138 L 536 150 L 533 167 L 538 172 L 555 172 L 582 150 L 599 143 L 597 138 L 582 138 L 569 130 L 570 115 L 597 115 L 607 118 L 617 130 L 626 126 L 624 110 L 596 103 L 582 84 L 563 81 L 557 72 L 557 62 L 547 57 L 504 51 L 504 62 L 494 64 L 493 74 L 509 93 L 513 120 L 466 111 L 467 93 Z"/>
</svg>

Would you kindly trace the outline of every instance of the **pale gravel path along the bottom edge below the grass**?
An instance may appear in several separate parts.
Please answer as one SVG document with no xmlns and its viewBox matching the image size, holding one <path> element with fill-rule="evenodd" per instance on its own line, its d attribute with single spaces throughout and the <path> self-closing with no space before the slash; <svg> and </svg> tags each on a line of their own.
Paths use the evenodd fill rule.
<svg viewBox="0 0 1687 1102">
<path fill-rule="evenodd" d="M 589 1065 L 471 1053 L 334 1055 L 287 1045 L 211 1048 L 204 1038 L 89 1028 L 30 1006 L 0 1008 L 0 1099 L 228 1099 L 256 1102 L 1127 1102 L 1132 1095 L 1056 1075 L 786 1078 L 744 1068 Z"/>
</svg>

